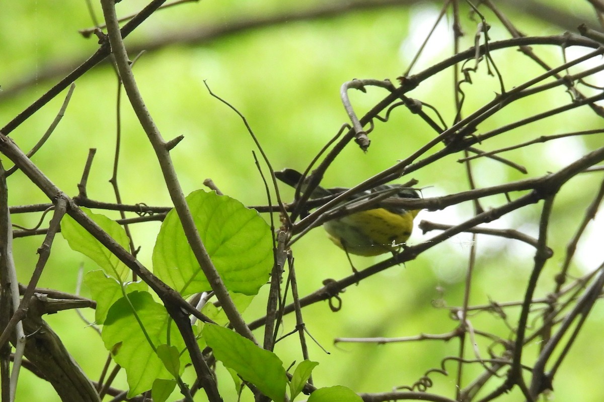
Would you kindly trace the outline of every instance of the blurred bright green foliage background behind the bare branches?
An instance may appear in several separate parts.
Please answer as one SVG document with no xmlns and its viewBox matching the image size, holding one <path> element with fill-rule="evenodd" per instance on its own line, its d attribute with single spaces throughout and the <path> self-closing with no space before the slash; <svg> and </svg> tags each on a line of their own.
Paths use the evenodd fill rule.
<svg viewBox="0 0 604 402">
<path fill-rule="evenodd" d="M 184 140 L 172 151 L 172 157 L 185 193 L 203 187 L 205 178 L 212 178 L 222 192 L 246 205 L 266 204 L 265 187 L 254 165 L 251 137 L 242 121 L 229 108 L 212 98 L 204 80 L 217 95 L 233 104 L 248 119 L 254 133 L 275 169 L 291 167 L 304 169 L 321 147 L 348 121 L 339 98 L 342 83 L 352 78 L 390 78 L 401 75 L 416 54 L 421 41 L 437 17 L 438 2 L 401 1 L 366 2 L 367 7 L 343 8 L 338 13 L 319 17 L 297 18 L 296 13 L 314 8 L 326 8 L 338 2 L 301 1 L 202 1 L 182 4 L 154 14 L 138 28 L 126 44 L 137 55 L 134 72 L 153 119 L 165 139 L 184 135 Z M 513 2 L 501 2 L 508 17 L 527 34 L 561 34 L 565 27 L 548 24 L 517 8 Z M 567 7 L 565 2 L 548 2 Z M 573 2 L 577 19 L 591 19 L 588 2 Z M 356 3 L 351 3 L 356 4 Z M 123 1 L 117 5 L 120 15 L 127 15 L 144 7 L 143 1 Z M 100 7 L 93 4 L 97 18 Z M 568 7 L 571 7 L 568 5 Z M 278 23 L 271 17 L 289 14 Z M 465 17 L 469 9 L 463 5 Z M 487 15 L 491 21 L 492 14 Z M 238 30 L 241 21 L 250 22 L 249 28 Z M 252 24 L 254 23 L 255 24 Z M 472 45 L 477 21 L 464 18 L 467 48 Z M 85 60 L 97 49 L 94 36 L 84 39 L 77 31 L 94 25 L 81 0 L 56 2 L 21 1 L 2 5 L 0 16 L 0 121 L 6 124 L 27 105 L 47 91 L 69 69 Z M 414 72 L 419 72 L 436 61 L 452 54 L 451 19 L 437 28 L 435 38 L 428 42 Z M 208 39 L 185 39 L 187 34 L 204 31 L 218 34 Z M 222 32 L 222 33 L 221 33 Z M 178 37 L 181 39 L 178 40 Z M 492 19 L 492 40 L 506 39 L 504 29 Z M 557 49 L 538 49 L 547 60 L 559 62 Z M 495 62 L 506 85 L 511 88 L 541 70 L 528 63 L 516 51 L 498 52 Z M 483 66 L 484 67 L 484 66 Z M 53 73 L 53 71 L 56 71 Z M 409 94 L 439 109 L 445 121 L 454 117 L 452 73 L 440 74 L 423 83 Z M 16 90 L 22 81 L 26 87 Z M 498 89 L 496 78 L 489 77 L 484 68 L 474 75 L 474 85 L 467 85 L 466 113 L 493 98 Z M 118 84 L 110 63 L 101 63 L 76 82 L 76 90 L 48 143 L 33 157 L 33 162 L 64 192 L 77 194 L 77 183 L 82 175 L 89 148 L 97 154 L 88 181 L 88 195 L 92 199 L 114 202 L 109 178 L 115 155 L 116 99 Z M 362 115 L 385 92 L 371 88 L 368 93 L 352 93 L 353 105 Z M 505 111 L 484 122 L 478 129 L 486 131 L 526 115 L 527 110 L 546 110 L 564 97 L 557 89 L 554 96 L 531 98 L 530 103 L 510 105 Z M 567 99 L 562 99 L 566 101 Z M 57 97 L 11 133 L 22 149 L 30 149 L 56 116 L 62 96 Z M 146 203 L 169 206 L 170 199 L 156 163 L 155 154 L 137 119 L 122 96 L 122 145 L 118 184 L 124 203 Z M 509 143 L 522 142 L 537 136 L 585 130 L 601 126 L 601 122 L 586 108 L 559 115 L 538 125 L 528 125 L 497 138 L 483 149 L 496 149 Z M 350 144 L 339 155 L 326 174 L 326 186 L 352 186 L 403 159 L 434 137 L 423 121 L 406 110 L 393 113 L 387 124 L 377 124 L 371 134 L 371 146 L 364 154 Z M 593 143 L 590 144 L 590 141 Z M 528 170 L 526 177 L 536 177 L 555 171 L 585 154 L 601 136 L 587 139 L 561 140 L 508 152 L 505 156 Z M 538 155 L 538 157 L 536 157 Z M 468 188 L 464 165 L 456 160 L 461 155 L 443 159 L 429 169 L 413 174 L 419 180 L 423 196 L 454 193 Z M 2 159 L 6 167 L 10 162 Z M 477 186 L 506 183 L 525 177 L 516 171 L 486 159 L 473 163 Z M 266 172 L 266 171 L 265 171 Z M 556 199 L 551 226 L 551 245 L 556 251 L 548 262 L 544 279 L 539 286 L 539 297 L 553 289 L 553 273 L 564 259 L 564 247 L 577 228 L 577 217 L 591 201 L 591 190 L 601 175 L 582 175 L 563 190 Z M 10 205 L 47 203 L 48 199 L 27 178 L 17 172 L 8 179 Z M 283 187 L 286 201 L 293 192 Z M 486 198 L 484 206 L 497 206 L 503 197 Z M 529 206 L 519 212 L 493 222 L 492 227 L 516 228 L 535 236 L 540 206 Z M 439 212 L 423 211 L 417 218 L 454 224 L 473 213 L 470 203 Z M 108 216 L 118 218 L 116 213 Z M 277 218 L 275 216 L 275 218 Z M 40 214 L 13 216 L 13 222 L 33 227 Z M 268 219 L 268 216 L 267 216 Z M 48 218 L 46 219 L 46 222 Z M 601 222 L 601 221 L 600 221 Z M 135 244 L 141 247 L 138 258 L 150 266 L 150 256 L 158 222 L 133 225 Z M 593 234 L 580 243 L 580 258 L 573 266 L 574 274 L 590 271 L 602 261 L 602 247 L 594 250 L 602 231 L 593 228 Z M 428 239 L 431 234 L 415 231 L 410 243 Z M 590 240 L 591 239 L 591 240 Z M 27 282 L 36 263 L 36 250 L 42 237 L 16 239 L 15 254 L 19 280 Z M 455 236 L 432 248 L 418 259 L 374 275 L 342 294 L 343 307 L 338 313 L 329 310 L 327 303 L 315 304 L 303 310 L 304 321 L 316 341 L 329 351 L 310 343 L 311 358 L 320 362 L 313 377 L 316 385 L 346 385 L 356 392 L 382 392 L 399 385 L 411 385 L 423 373 L 440 366 L 443 356 L 457 354 L 456 341 L 423 341 L 403 344 L 338 344 L 336 337 L 413 336 L 419 333 L 445 333 L 458 325 L 449 317 L 447 309 L 439 306 L 460 306 L 467 259 L 471 248 L 470 236 Z M 500 303 L 521 300 L 533 257 L 533 249 L 513 240 L 478 236 L 477 277 L 472 287 L 471 304 Z M 340 250 L 327 241 L 326 234 L 316 229 L 294 246 L 298 286 L 301 295 L 321 287 L 326 278 L 341 278 L 350 274 L 350 266 Z M 362 269 L 379 261 L 353 257 Z M 53 245 L 53 253 L 39 286 L 65 292 L 75 292 L 78 271 L 95 269 L 88 260 L 69 250 L 60 237 Z M 88 295 L 82 289 L 83 295 Z M 266 289 L 246 311 L 246 319 L 263 315 Z M 519 309 L 506 310 L 509 322 L 514 322 Z M 92 312 L 84 312 L 92 318 Z M 557 400 L 601 401 L 604 390 L 598 384 L 602 375 L 602 351 L 594 353 L 590 340 L 600 339 L 604 325 L 604 310 L 598 306 L 591 313 L 590 322 L 581 333 L 554 382 Z M 100 338 L 69 311 L 47 317 L 68 350 L 91 378 L 98 378 L 106 359 Z M 288 317 L 283 333 L 293 329 L 295 321 Z M 472 325 L 484 331 L 498 331 L 509 336 L 501 320 L 486 313 L 472 317 Z M 277 344 L 276 353 L 285 366 L 302 359 L 297 336 Z M 538 345 L 528 351 L 536 353 Z M 486 350 L 481 350 L 487 356 Z M 527 359 L 530 353 L 527 353 Z M 472 356 L 468 349 L 467 356 Z M 596 372 L 593 368 L 599 369 Z M 452 394 L 455 385 L 454 364 L 447 363 L 449 376 L 431 374 L 434 381 L 431 392 Z M 480 365 L 466 366 L 466 383 L 482 372 Z M 599 373 L 599 374 L 598 374 Z M 235 400 L 231 380 L 222 372 L 220 388 Z M 124 387 L 123 375 L 116 386 Z M 489 389 L 497 383 L 493 382 Z M 57 400 L 50 386 L 24 371 L 19 382 L 18 400 Z M 178 395 L 173 395 L 176 399 Z M 246 395 L 248 398 L 249 395 Z M 500 400 L 519 400 L 517 391 Z M 202 395 L 198 395 L 203 400 Z"/>
</svg>

